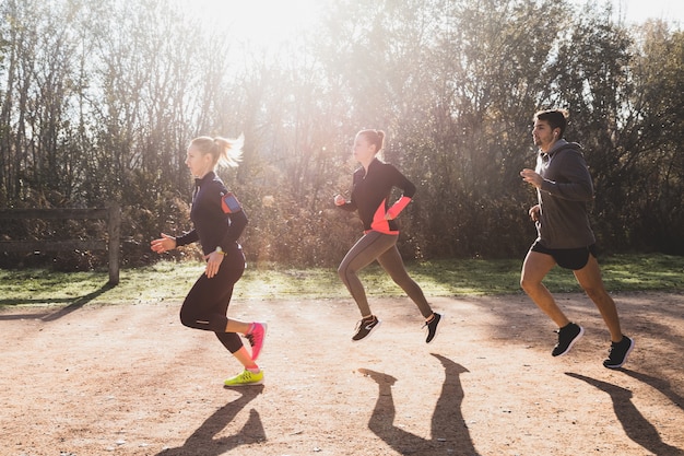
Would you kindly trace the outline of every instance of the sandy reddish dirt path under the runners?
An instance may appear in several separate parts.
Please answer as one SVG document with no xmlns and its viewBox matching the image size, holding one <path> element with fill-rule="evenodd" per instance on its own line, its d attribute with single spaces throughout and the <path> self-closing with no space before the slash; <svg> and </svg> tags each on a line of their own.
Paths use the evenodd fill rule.
<svg viewBox="0 0 684 456">
<path fill-rule="evenodd" d="M 374 300 L 359 343 L 351 300 L 235 301 L 269 323 L 266 385 L 235 389 L 180 303 L 4 308 L 0 454 L 684 455 L 684 294 L 615 295 L 636 339 L 620 371 L 591 302 L 558 297 L 586 327 L 559 359 L 523 295 L 432 300 L 429 346 L 406 299 Z"/>
</svg>

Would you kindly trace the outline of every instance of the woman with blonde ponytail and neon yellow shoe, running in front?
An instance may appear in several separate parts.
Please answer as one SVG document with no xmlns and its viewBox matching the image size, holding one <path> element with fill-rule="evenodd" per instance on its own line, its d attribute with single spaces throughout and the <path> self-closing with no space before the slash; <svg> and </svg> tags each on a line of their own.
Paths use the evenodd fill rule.
<svg viewBox="0 0 684 456">
<path fill-rule="evenodd" d="M 198 241 L 202 245 L 207 268 L 182 303 L 180 321 L 190 328 L 213 331 L 243 364 L 243 372 L 226 379 L 226 386 L 263 383 L 257 358 L 263 348 L 267 325 L 227 317 L 233 288 L 245 271 L 245 255 L 237 239 L 247 225 L 247 215 L 215 168 L 236 167 L 243 144 L 243 136 L 237 139 L 199 137 L 190 142 L 186 165 L 194 177 L 190 210 L 194 227 L 176 237 L 162 233 L 161 238 L 152 241 L 152 250 L 158 254 Z M 251 353 L 239 335 L 249 340 Z"/>
</svg>

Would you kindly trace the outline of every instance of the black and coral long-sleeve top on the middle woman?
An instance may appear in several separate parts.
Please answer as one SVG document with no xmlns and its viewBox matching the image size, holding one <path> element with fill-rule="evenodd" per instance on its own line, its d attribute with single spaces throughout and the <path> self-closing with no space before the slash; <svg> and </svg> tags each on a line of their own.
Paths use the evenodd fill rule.
<svg viewBox="0 0 684 456">
<path fill-rule="evenodd" d="M 375 159 L 368 165 L 367 173 L 363 166 L 354 172 L 351 200 L 340 208 L 347 211 L 358 210 L 365 231 L 397 234 L 399 233 L 397 222 L 385 220 L 390 194 L 394 187 L 402 190 L 404 197 L 413 198 L 415 195 L 415 185 L 399 169 Z"/>
</svg>

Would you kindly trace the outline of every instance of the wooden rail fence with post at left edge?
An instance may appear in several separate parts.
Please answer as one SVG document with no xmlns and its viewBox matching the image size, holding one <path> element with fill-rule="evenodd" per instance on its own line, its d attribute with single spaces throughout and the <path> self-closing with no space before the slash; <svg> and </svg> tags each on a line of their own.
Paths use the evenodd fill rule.
<svg viewBox="0 0 684 456">
<path fill-rule="evenodd" d="M 0 241 L 0 252 L 108 250 L 109 284 L 119 283 L 119 237 L 121 209 L 0 209 L 0 220 L 107 220 L 107 239 Z"/>
</svg>

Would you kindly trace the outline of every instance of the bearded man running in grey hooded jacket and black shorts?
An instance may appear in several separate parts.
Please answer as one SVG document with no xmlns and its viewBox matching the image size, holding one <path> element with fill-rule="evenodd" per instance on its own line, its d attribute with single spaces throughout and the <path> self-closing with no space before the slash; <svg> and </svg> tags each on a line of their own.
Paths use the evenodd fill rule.
<svg viewBox="0 0 684 456">
<path fill-rule="evenodd" d="M 587 213 L 593 185 L 581 147 L 563 139 L 566 127 L 564 110 L 541 110 L 534 115 L 532 138 L 539 147 L 536 168 L 522 169 L 520 176 L 536 188 L 539 202 L 530 208 L 529 214 L 536 225 L 538 237 L 524 258 L 520 285 L 558 325 L 558 342 L 552 355 L 562 356 L 582 337 L 585 329 L 565 316 L 542 280 L 556 265 L 571 269 L 599 308 L 611 335 L 612 343 L 603 365 L 617 369 L 634 349 L 634 340 L 622 334 L 615 302 L 601 279 L 595 237 Z"/>
</svg>

